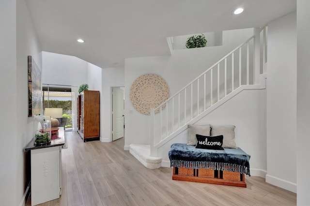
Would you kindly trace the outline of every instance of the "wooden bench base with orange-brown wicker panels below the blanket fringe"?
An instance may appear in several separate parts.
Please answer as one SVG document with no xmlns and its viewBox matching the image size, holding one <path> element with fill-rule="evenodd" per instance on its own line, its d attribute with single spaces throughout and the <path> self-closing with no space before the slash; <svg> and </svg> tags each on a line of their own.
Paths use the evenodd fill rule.
<svg viewBox="0 0 310 206">
<path fill-rule="evenodd" d="M 173 167 L 172 179 L 189 182 L 202 182 L 217 185 L 228 185 L 235 187 L 247 187 L 245 175 L 211 169 L 189 169 L 185 167 Z"/>
</svg>

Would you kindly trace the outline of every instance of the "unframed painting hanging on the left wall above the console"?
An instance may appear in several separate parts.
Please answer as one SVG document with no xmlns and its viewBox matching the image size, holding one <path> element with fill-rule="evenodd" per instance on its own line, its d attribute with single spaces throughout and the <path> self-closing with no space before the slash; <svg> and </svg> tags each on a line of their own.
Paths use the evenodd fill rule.
<svg viewBox="0 0 310 206">
<path fill-rule="evenodd" d="M 28 117 L 43 111 L 42 73 L 31 56 L 28 56 Z"/>
</svg>

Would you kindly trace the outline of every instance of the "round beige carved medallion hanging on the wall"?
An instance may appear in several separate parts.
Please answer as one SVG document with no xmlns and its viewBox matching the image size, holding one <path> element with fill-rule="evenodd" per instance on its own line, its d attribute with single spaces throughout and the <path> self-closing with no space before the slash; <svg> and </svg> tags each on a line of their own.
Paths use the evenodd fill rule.
<svg viewBox="0 0 310 206">
<path fill-rule="evenodd" d="M 150 115 L 151 108 L 156 108 L 168 98 L 169 88 L 167 82 L 156 74 L 139 76 L 130 88 L 132 105 L 138 112 L 145 115 Z"/>
</svg>

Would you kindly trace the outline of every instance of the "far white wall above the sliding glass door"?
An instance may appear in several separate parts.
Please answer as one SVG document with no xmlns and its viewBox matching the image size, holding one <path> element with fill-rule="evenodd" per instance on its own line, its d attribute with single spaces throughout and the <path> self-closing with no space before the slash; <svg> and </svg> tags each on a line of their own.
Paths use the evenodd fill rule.
<svg viewBox="0 0 310 206">
<path fill-rule="evenodd" d="M 80 86 L 88 83 L 88 62 L 77 57 L 42 52 L 42 83 Z"/>
</svg>

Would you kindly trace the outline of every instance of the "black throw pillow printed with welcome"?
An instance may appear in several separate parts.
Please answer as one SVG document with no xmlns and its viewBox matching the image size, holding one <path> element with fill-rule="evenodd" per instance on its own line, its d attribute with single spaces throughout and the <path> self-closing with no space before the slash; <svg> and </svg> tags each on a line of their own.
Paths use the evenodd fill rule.
<svg viewBox="0 0 310 206">
<path fill-rule="evenodd" d="M 223 145 L 223 135 L 219 136 L 203 136 L 196 134 L 198 149 L 217 149 L 224 150 Z"/>
</svg>

